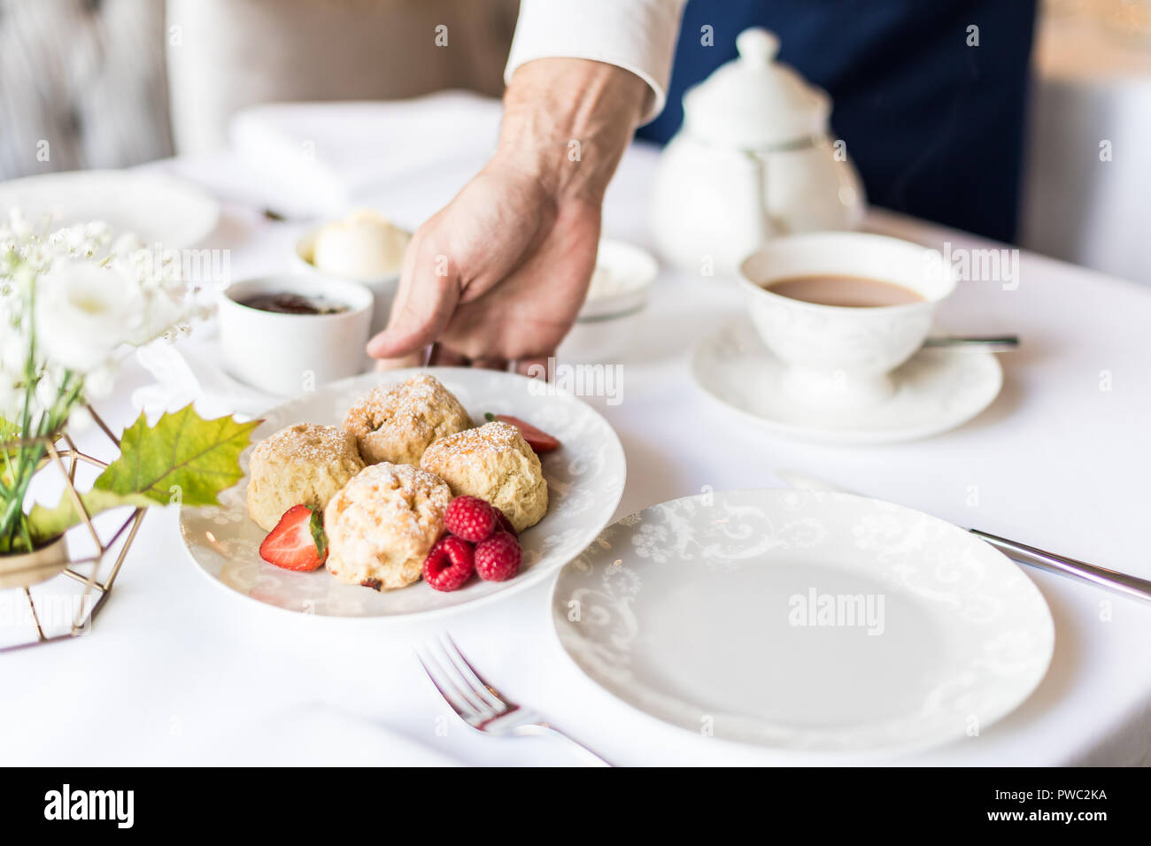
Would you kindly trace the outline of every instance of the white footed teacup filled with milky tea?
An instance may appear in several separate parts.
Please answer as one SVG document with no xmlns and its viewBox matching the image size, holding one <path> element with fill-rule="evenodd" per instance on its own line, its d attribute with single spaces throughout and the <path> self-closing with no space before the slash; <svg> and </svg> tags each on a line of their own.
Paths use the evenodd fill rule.
<svg viewBox="0 0 1151 846">
<path fill-rule="evenodd" d="M 843 275 L 891 282 L 922 302 L 848 307 L 807 303 L 769 290 L 795 276 Z M 931 330 L 936 308 L 955 289 L 937 250 L 866 233 L 808 233 L 775 238 L 739 267 L 749 317 L 787 365 L 783 389 L 796 399 L 849 409 L 882 402 L 890 373 Z"/>
</svg>

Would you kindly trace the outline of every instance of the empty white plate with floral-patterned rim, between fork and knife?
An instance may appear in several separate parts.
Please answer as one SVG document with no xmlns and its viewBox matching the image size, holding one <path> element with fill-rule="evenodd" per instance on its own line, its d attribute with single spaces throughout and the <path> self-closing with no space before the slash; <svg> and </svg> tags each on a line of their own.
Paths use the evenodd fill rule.
<svg viewBox="0 0 1151 846">
<path fill-rule="evenodd" d="M 1004 555 L 852 494 L 733 490 L 609 526 L 552 592 L 597 684 L 689 731 L 791 749 L 920 747 L 1020 704 L 1054 627 Z"/>
</svg>

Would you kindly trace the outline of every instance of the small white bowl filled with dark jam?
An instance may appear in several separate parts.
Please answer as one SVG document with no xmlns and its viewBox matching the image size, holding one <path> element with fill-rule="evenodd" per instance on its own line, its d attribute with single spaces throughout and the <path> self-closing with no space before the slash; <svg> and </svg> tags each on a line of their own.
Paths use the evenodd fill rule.
<svg viewBox="0 0 1151 846">
<path fill-rule="evenodd" d="M 256 294 L 297 294 L 348 306 L 334 314 L 282 314 L 238 300 Z M 280 396 L 299 396 L 365 369 L 373 296 L 359 282 L 327 276 L 259 276 L 220 292 L 224 368 Z"/>
</svg>

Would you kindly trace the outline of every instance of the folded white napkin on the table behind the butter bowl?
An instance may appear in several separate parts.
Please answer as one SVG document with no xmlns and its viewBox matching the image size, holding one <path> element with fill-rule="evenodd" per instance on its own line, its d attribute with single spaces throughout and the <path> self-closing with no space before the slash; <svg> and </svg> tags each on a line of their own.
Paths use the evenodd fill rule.
<svg viewBox="0 0 1151 846">
<path fill-rule="evenodd" d="M 443 91 L 390 102 L 252 106 L 233 117 L 229 135 L 267 205 L 333 216 L 390 181 L 494 148 L 500 116 L 498 100 Z"/>
</svg>

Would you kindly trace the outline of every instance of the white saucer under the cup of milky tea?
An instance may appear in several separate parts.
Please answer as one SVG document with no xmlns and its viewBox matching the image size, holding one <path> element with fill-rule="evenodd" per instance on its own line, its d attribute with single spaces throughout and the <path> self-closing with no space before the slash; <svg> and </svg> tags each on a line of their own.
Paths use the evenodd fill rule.
<svg viewBox="0 0 1151 846">
<path fill-rule="evenodd" d="M 769 432 L 823 443 L 894 443 L 937 435 L 986 409 L 1003 368 L 986 350 L 920 350 L 894 371 L 892 396 L 874 406 L 828 411 L 780 388 L 785 367 L 740 318 L 700 342 L 692 375 L 712 399 Z"/>
</svg>

